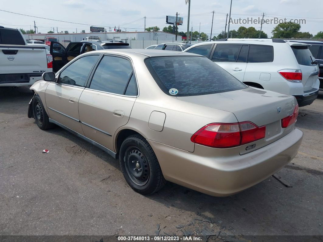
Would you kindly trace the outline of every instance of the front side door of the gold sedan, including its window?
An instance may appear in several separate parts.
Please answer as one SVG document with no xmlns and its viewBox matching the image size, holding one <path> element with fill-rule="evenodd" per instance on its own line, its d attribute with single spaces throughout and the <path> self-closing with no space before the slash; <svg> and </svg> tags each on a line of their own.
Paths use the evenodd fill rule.
<svg viewBox="0 0 323 242">
<path fill-rule="evenodd" d="M 83 134 L 79 122 L 78 102 L 99 54 L 73 61 L 50 82 L 45 91 L 48 116 L 66 127 Z"/>
</svg>

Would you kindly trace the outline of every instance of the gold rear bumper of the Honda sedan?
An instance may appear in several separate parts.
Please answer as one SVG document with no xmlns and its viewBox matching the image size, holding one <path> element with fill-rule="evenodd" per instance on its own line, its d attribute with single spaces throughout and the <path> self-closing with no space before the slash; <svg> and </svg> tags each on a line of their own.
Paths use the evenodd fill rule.
<svg viewBox="0 0 323 242">
<path fill-rule="evenodd" d="M 297 154 L 303 132 L 295 129 L 278 141 L 244 155 L 216 156 L 195 145 L 193 153 L 149 141 L 166 180 L 212 196 L 243 191 L 279 171 Z"/>
</svg>

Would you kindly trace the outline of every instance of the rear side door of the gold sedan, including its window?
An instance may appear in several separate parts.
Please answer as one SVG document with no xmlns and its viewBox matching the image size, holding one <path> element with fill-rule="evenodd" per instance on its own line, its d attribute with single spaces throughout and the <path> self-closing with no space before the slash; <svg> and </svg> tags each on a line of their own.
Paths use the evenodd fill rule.
<svg viewBox="0 0 323 242">
<path fill-rule="evenodd" d="M 78 111 L 89 139 L 114 150 L 113 136 L 130 117 L 137 82 L 129 59 L 104 55 L 81 94 Z"/>
</svg>

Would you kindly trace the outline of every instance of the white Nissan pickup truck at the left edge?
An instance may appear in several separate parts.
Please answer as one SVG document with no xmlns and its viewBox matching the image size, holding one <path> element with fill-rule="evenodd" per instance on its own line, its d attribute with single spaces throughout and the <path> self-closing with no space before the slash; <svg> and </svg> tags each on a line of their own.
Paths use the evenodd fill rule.
<svg viewBox="0 0 323 242">
<path fill-rule="evenodd" d="M 20 30 L 0 26 L 0 87 L 31 86 L 52 68 L 46 47 L 27 45 Z"/>
</svg>

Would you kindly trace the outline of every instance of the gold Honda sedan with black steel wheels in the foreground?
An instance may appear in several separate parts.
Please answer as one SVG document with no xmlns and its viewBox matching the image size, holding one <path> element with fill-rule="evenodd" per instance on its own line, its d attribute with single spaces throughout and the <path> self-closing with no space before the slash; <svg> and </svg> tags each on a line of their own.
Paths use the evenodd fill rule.
<svg viewBox="0 0 323 242">
<path fill-rule="evenodd" d="M 206 57 L 149 49 L 87 52 L 30 89 L 28 117 L 119 159 L 148 195 L 166 181 L 228 196 L 297 154 L 295 97 L 246 86 Z"/>
</svg>

